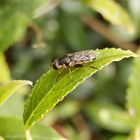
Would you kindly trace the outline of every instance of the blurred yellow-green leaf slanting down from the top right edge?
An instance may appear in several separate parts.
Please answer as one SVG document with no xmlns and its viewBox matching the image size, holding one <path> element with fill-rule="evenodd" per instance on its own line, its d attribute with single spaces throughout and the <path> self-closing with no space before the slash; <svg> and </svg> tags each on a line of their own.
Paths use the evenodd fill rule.
<svg viewBox="0 0 140 140">
<path fill-rule="evenodd" d="M 88 5 L 102 14 L 112 24 L 123 27 L 128 33 L 134 34 L 135 28 L 127 11 L 113 0 L 86 0 Z"/>
</svg>

